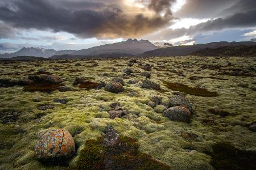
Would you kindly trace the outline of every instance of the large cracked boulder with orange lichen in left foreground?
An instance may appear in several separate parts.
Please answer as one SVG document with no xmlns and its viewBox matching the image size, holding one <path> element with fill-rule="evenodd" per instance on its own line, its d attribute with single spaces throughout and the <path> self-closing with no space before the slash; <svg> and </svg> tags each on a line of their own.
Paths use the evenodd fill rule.
<svg viewBox="0 0 256 170">
<path fill-rule="evenodd" d="M 65 160 L 75 154 L 75 142 L 69 131 L 47 130 L 36 143 L 35 154 L 40 160 Z"/>
</svg>

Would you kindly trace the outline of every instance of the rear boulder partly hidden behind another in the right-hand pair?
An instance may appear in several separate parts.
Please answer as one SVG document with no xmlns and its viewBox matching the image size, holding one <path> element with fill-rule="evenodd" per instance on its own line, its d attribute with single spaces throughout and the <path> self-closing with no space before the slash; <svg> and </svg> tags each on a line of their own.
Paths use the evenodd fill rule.
<svg viewBox="0 0 256 170">
<path fill-rule="evenodd" d="M 191 114 L 193 114 L 193 108 L 191 103 L 189 102 L 188 99 L 186 99 L 181 95 L 170 98 L 170 107 L 175 107 L 175 106 L 185 107 L 191 112 Z"/>
</svg>

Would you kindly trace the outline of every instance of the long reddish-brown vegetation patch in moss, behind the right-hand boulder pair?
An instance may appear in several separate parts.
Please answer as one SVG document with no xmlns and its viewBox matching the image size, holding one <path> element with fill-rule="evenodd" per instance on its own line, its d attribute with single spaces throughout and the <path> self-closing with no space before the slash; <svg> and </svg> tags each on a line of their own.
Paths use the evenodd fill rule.
<svg viewBox="0 0 256 170">
<path fill-rule="evenodd" d="M 205 88 L 200 87 L 189 87 L 187 85 L 181 83 L 170 83 L 170 82 L 163 82 L 164 85 L 174 91 L 184 92 L 185 94 L 195 95 L 195 96 L 202 96 L 202 97 L 217 97 L 219 96 L 217 92 L 210 92 Z"/>
</svg>

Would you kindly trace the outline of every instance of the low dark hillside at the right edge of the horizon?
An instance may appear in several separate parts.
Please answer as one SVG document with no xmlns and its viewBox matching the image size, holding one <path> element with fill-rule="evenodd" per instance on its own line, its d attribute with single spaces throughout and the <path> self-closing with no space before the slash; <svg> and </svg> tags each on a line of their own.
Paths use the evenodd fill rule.
<svg viewBox="0 0 256 170">
<path fill-rule="evenodd" d="M 221 46 L 219 48 L 205 48 L 193 52 L 192 56 L 250 56 L 256 57 L 256 46 Z"/>
</svg>

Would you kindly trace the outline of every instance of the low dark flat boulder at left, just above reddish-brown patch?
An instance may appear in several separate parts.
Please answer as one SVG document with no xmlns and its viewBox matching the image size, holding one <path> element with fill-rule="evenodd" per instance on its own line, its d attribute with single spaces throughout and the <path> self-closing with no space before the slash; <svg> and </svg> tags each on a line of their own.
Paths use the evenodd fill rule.
<svg viewBox="0 0 256 170">
<path fill-rule="evenodd" d="M 57 75 L 48 75 L 48 74 L 40 74 L 40 75 L 30 75 L 28 79 L 32 80 L 34 83 L 43 83 L 43 84 L 60 84 L 63 81 Z"/>
</svg>

